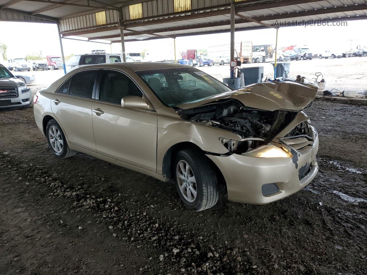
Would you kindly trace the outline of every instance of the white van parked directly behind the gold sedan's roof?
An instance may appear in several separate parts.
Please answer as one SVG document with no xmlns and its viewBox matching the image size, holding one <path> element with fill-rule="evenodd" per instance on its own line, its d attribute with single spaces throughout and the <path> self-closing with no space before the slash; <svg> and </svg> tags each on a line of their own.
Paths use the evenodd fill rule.
<svg viewBox="0 0 367 275">
<path fill-rule="evenodd" d="M 123 60 L 121 54 L 80 54 L 73 55 L 66 61 L 66 73 L 86 65 L 95 65 L 102 63 L 121 62 Z M 135 62 L 130 56 L 126 55 L 126 62 Z"/>
</svg>

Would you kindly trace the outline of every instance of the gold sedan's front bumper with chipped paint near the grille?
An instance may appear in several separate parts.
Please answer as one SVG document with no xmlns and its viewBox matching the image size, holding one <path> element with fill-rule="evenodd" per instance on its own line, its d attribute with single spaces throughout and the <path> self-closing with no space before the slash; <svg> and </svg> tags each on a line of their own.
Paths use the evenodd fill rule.
<svg viewBox="0 0 367 275">
<path fill-rule="evenodd" d="M 296 153 L 292 158 L 257 158 L 237 154 L 207 154 L 207 157 L 221 170 L 230 201 L 266 204 L 298 192 L 313 180 L 319 170 L 316 161 L 318 148 L 316 136 L 311 150 L 304 154 Z M 277 187 L 273 189 L 275 192 L 267 194 L 272 186 Z"/>
</svg>

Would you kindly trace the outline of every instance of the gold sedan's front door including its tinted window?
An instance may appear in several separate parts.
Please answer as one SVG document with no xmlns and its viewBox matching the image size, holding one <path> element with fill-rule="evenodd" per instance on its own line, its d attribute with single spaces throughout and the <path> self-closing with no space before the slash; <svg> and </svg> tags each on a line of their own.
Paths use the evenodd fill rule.
<svg viewBox="0 0 367 275">
<path fill-rule="evenodd" d="M 97 153 L 156 172 L 157 113 L 154 110 L 124 109 L 125 96 L 143 96 L 126 74 L 103 70 L 92 123 Z"/>
</svg>

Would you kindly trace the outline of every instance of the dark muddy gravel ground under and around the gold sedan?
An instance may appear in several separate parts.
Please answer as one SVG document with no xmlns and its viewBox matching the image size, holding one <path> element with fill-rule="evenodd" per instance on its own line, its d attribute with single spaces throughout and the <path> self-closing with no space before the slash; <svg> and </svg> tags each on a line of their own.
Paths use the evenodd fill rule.
<svg viewBox="0 0 367 275">
<path fill-rule="evenodd" d="M 186 210 L 172 184 L 59 159 L 32 108 L 0 112 L 1 274 L 367 274 L 366 109 L 315 102 L 320 172 L 269 205 Z M 351 123 L 353 122 L 353 123 Z"/>
</svg>

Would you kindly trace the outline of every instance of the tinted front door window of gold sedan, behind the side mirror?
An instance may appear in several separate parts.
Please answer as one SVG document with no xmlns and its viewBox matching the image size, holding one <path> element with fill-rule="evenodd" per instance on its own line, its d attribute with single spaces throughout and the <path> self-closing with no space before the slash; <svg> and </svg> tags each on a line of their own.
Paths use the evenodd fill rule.
<svg viewBox="0 0 367 275">
<path fill-rule="evenodd" d="M 116 71 L 104 70 L 99 88 L 100 100 L 120 104 L 123 97 L 132 95 L 143 97 L 138 86 L 129 77 Z"/>
</svg>

